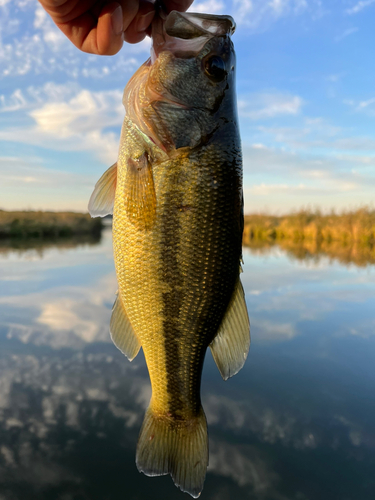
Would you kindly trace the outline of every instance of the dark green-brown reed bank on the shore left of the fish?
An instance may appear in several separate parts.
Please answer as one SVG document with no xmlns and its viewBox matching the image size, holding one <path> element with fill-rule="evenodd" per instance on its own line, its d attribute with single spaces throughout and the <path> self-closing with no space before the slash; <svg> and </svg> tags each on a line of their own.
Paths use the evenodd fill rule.
<svg viewBox="0 0 375 500">
<path fill-rule="evenodd" d="M 61 238 L 98 235 L 102 220 L 76 212 L 0 210 L 0 238 Z"/>
</svg>

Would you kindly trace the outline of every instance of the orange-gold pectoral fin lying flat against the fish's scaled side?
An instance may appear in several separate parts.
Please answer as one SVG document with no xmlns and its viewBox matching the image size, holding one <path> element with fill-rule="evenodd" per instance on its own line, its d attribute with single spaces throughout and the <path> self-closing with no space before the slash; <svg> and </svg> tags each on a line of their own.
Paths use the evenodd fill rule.
<svg viewBox="0 0 375 500">
<path fill-rule="evenodd" d="M 155 221 L 156 194 L 147 153 L 127 160 L 126 214 L 137 229 L 150 229 Z"/>
</svg>

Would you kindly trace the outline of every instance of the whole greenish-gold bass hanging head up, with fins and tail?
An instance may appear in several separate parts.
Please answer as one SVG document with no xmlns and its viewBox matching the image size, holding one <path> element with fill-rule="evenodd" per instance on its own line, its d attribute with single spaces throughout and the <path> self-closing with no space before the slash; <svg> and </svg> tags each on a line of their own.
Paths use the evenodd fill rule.
<svg viewBox="0 0 375 500">
<path fill-rule="evenodd" d="M 124 90 L 117 162 L 89 202 L 113 213 L 114 344 L 142 347 L 152 396 L 136 464 L 197 498 L 208 467 L 200 385 L 207 348 L 224 380 L 244 365 L 242 153 L 230 16 L 160 11 L 151 57 Z"/>
</svg>

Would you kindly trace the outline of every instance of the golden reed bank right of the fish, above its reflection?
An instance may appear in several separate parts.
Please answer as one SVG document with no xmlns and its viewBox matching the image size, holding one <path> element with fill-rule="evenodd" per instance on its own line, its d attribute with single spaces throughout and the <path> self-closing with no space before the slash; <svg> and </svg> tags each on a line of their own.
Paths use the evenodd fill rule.
<svg viewBox="0 0 375 500">
<path fill-rule="evenodd" d="M 243 242 L 246 245 L 255 240 L 374 245 L 375 210 L 364 207 L 326 215 L 318 210 L 301 210 L 285 216 L 246 215 Z"/>
</svg>

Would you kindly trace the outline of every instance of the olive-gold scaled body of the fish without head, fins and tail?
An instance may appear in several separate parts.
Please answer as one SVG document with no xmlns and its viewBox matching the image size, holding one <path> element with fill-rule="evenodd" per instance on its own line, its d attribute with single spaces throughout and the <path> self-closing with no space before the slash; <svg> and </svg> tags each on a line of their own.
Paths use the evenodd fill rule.
<svg viewBox="0 0 375 500">
<path fill-rule="evenodd" d="M 138 150 L 134 147 L 133 134 L 134 131 L 131 129 L 131 151 L 123 151 L 125 159 L 144 149 L 142 143 Z M 140 136 L 140 141 L 142 140 L 143 137 Z M 197 366 L 201 367 L 205 350 L 218 329 L 238 276 L 238 264 L 232 264 L 231 276 L 228 276 L 227 268 L 222 266 L 222 261 L 236 262 L 238 259 L 237 246 L 231 249 L 226 243 L 227 226 L 232 223 L 229 212 L 231 206 L 227 208 L 226 205 L 231 196 L 228 196 L 227 183 L 219 181 L 223 186 L 221 191 L 206 187 L 210 183 L 211 172 L 214 169 L 217 171 L 218 164 L 217 153 L 214 155 L 214 162 L 210 160 L 209 150 L 206 154 L 207 159 L 204 153 L 200 151 L 199 158 L 196 160 L 191 158 L 185 163 L 177 159 L 162 162 L 160 166 L 154 165 L 158 209 L 155 226 L 148 232 L 136 231 L 131 218 L 124 214 L 127 168 L 126 160 L 122 161 L 121 155 L 118 161 L 118 194 L 116 193 L 113 230 L 116 270 L 120 277 L 119 289 L 130 322 L 145 352 L 153 384 L 154 404 L 160 407 L 159 397 L 163 402 L 168 399 L 172 401 L 167 408 L 163 407 L 166 413 L 173 413 L 176 407 L 175 401 L 179 400 L 181 394 L 185 396 L 184 380 L 189 384 L 191 376 L 194 379 L 194 390 L 186 401 L 190 407 L 200 405 L 198 399 L 200 375 L 198 377 L 195 374 L 199 370 L 189 373 L 183 361 L 178 370 L 181 358 L 178 350 L 179 337 L 185 339 L 185 348 L 191 343 L 198 346 L 197 353 L 186 352 L 185 349 L 183 357 L 196 359 Z M 227 163 L 222 161 L 222 164 L 225 170 L 228 170 Z M 195 169 L 193 165 L 196 165 Z M 220 178 L 219 174 L 218 177 Z M 179 183 L 181 178 L 185 178 L 182 184 Z M 225 203 L 226 200 L 228 201 Z M 194 208 L 180 211 L 178 207 L 181 204 Z M 219 211 L 220 215 L 217 214 Z M 226 218 L 229 217 L 227 221 L 224 220 L 225 214 Z M 217 215 L 220 224 L 217 223 Z M 127 238 L 117 239 L 116 234 L 126 234 Z M 204 240 L 202 234 L 205 235 Z M 233 259 L 230 252 L 235 253 L 237 259 Z M 123 256 L 127 258 L 124 259 Z M 146 268 L 134 267 L 133 262 L 136 259 Z M 203 275 L 209 276 L 209 281 L 202 287 Z M 149 280 L 146 285 L 145 277 Z M 228 290 L 227 297 L 224 295 L 225 288 Z M 160 293 L 160 290 L 167 291 Z M 222 294 L 224 298 L 221 297 Z M 186 304 L 185 314 L 181 314 L 182 304 Z M 205 314 L 202 312 L 196 314 L 197 308 L 202 309 Z M 142 315 L 140 311 L 144 311 Z M 206 318 L 208 312 L 210 315 Z M 153 318 L 153 321 L 150 321 L 150 318 Z M 204 328 L 207 323 L 212 327 L 202 332 L 202 325 Z M 161 337 L 156 359 L 154 331 L 160 332 Z M 163 354 L 159 354 L 160 349 L 165 349 L 166 354 L 164 355 L 164 350 Z M 166 387 L 159 380 L 164 381 L 165 378 Z M 162 390 L 158 391 L 158 388 Z M 189 413 L 191 409 L 186 406 L 181 411 Z"/>
</svg>

